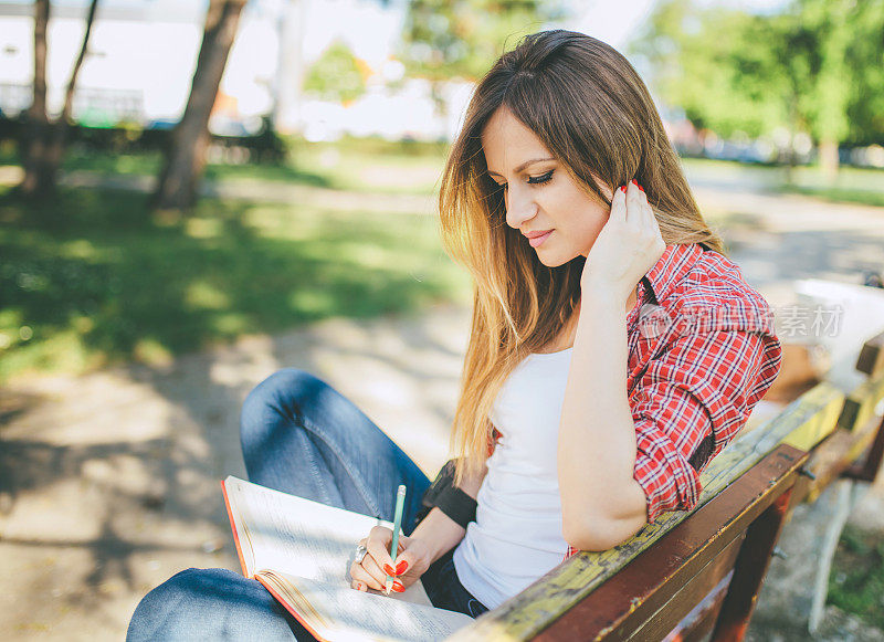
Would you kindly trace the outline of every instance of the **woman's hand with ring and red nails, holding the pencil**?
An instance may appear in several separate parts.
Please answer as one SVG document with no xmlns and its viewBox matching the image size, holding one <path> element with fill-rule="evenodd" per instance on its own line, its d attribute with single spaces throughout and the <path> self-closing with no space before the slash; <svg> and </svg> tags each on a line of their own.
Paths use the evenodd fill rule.
<svg viewBox="0 0 884 642">
<path fill-rule="evenodd" d="M 390 558 L 393 532 L 385 526 L 375 526 L 361 544 L 368 549 L 362 562 L 350 566 L 350 586 L 357 590 L 385 590 L 387 575 L 393 576 L 393 590 L 404 591 L 430 567 L 431 551 L 420 539 L 399 536 L 396 559 Z M 392 572 L 391 572 L 392 571 Z"/>
</svg>

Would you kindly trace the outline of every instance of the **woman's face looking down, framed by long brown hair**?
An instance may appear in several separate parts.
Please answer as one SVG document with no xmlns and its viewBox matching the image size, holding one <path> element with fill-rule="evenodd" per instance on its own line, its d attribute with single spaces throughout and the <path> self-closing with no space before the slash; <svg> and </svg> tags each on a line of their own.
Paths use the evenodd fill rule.
<svg viewBox="0 0 884 642">
<path fill-rule="evenodd" d="M 588 194 L 540 139 L 506 107 L 482 131 L 488 175 L 505 186 L 506 222 L 526 235 L 544 265 L 589 254 L 611 209 Z M 610 199 L 611 188 L 599 181 Z M 536 240 L 537 232 L 549 232 Z"/>
</svg>

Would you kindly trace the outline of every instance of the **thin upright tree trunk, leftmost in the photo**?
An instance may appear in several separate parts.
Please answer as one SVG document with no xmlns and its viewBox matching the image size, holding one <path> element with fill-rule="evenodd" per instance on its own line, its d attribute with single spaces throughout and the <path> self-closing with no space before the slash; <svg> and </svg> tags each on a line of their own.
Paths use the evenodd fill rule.
<svg viewBox="0 0 884 642">
<path fill-rule="evenodd" d="M 34 2 L 34 97 L 28 109 L 22 139 L 22 166 L 24 178 L 18 186 L 22 196 L 35 198 L 46 194 L 44 171 L 45 149 L 50 137 L 46 116 L 46 25 L 49 24 L 49 0 Z"/>
</svg>

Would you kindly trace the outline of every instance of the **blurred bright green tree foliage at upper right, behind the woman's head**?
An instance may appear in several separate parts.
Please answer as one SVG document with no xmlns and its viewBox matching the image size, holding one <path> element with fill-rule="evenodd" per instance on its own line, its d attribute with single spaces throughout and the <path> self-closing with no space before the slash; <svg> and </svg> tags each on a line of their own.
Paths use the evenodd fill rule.
<svg viewBox="0 0 884 642">
<path fill-rule="evenodd" d="M 869 145 L 884 143 L 882 34 L 884 0 L 792 0 L 771 14 L 663 0 L 631 51 L 699 128 Z"/>
</svg>

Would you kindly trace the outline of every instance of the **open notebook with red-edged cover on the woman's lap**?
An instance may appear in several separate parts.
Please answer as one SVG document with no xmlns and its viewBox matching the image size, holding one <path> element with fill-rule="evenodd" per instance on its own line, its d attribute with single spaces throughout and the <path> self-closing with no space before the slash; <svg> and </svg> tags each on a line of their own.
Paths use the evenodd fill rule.
<svg viewBox="0 0 884 642">
<path fill-rule="evenodd" d="M 473 621 L 436 609 L 418 581 L 386 596 L 350 588 L 356 544 L 392 524 L 230 476 L 222 482 L 243 575 L 328 642 L 443 640 Z"/>
</svg>

